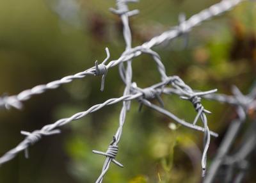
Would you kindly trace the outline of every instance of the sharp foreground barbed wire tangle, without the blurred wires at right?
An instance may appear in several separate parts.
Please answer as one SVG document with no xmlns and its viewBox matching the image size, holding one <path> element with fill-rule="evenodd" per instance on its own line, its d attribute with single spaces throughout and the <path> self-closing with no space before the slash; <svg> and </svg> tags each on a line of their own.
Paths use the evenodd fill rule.
<svg viewBox="0 0 256 183">
<path fill-rule="evenodd" d="M 183 20 L 183 22 L 180 22 L 179 26 L 176 26 L 170 31 L 166 31 L 163 34 L 152 38 L 149 42 L 146 42 L 145 44 L 134 47 L 134 48 L 131 48 L 131 30 L 129 28 L 129 16 L 135 15 L 136 13 L 138 13 L 138 10 L 129 11 L 126 4 L 129 2 L 136 2 L 136 1 L 135 0 L 117 0 L 117 3 L 116 3 L 117 9 L 116 10 L 111 9 L 112 12 L 120 15 L 120 18 L 122 19 L 122 22 L 124 24 L 124 39 L 125 39 L 126 49 L 125 49 L 125 52 L 120 56 L 120 58 L 118 58 L 117 60 L 110 61 L 108 65 L 106 65 L 105 63 L 109 59 L 109 51 L 106 48 L 107 58 L 101 64 L 98 65 L 98 62 L 96 61 L 95 67 L 89 68 L 84 72 L 79 72 L 73 76 L 63 77 L 58 81 L 52 81 L 51 83 L 48 83 L 48 84 L 35 86 L 32 89 L 25 90 L 19 93 L 18 95 L 13 95 L 10 97 L 7 97 L 7 96 L 2 97 L 0 100 L 0 106 L 6 107 L 6 108 L 16 107 L 20 109 L 22 107 L 22 102 L 24 100 L 30 99 L 33 95 L 44 93 L 46 90 L 58 88 L 61 84 L 70 83 L 74 79 L 81 79 L 85 76 L 93 76 L 93 75 L 102 76 L 102 83 L 100 86 L 100 90 L 104 90 L 104 80 L 106 78 L 108 69 L 118 64 L 119 64 L 119 70 L 120 70 L 120 77 L 125 83 L 124 95 L 120 98 L 106 100 L 106 102 L 92 106 L 87 111 L 76 113 L 70 118 L 63 118 L 50 125 L 45 125 L 40 130 L 36 130 L 33 132 L 22 131 L 21 133 L 26 135 L 27 137 L 24 139 L 24 141 L 22 141 L 19 145 L 17 145 L 17 147 L 13 148 L 12 150 L 4 154 L 2 157 L 0 157 L 0 164 L 10 161 L 11 159 L 13 159 L 13 157 L 15 157 L 15 155 L 17 155 L 19 152 L 23 150 L 25 150 L 25 154 L 26 156 L 28 156 L 28 147 L 30 145 L 33 145 L 34 143 L 36 143 L 38 140 L 42 138 L 42 136 L 49 136 L 52 134 L 60 133 L 60 130 L 57 129 L 58 127 L 61 127 L 62 125 L 72 122 L 73 120 L 78 120 L 83 116 L 88 115 L 88 113 L 97 111 L 98 109 L 104 106 L 123 101 L 123 107 L 120 112 L 120 126 L 118 127 L 118 130 L 116 131 L 116 134 L 113 137 L 113 141 L 109 145 L 107 152 L 93 151 L 97 154 L 106 155 L 106 161 L 102 168 L 102 173 L 100 174 L 99 178 L 96 181 L 96 182 L 102 182 L 102 179 L 106 174 L 106 172 L 108 171 L 108 168 L 111 162 L 114 162 L 119 166 L 122 166 L 122 164 L 118 163 L 118 161 L 115 160 L 115 157 L 118 152 L 118 143 L 121 138 L 122 127 L 125 122 L 125 115 L 127 110 L 129 110 L 129 107 L 130 107 L 130 100 L 138 99 L 138 101 L 141 104 L 144 104 L 145 106 L 151 107 L 152 109 L 155 109 L 160 113 L 163 113 L 164 115 L 172 118 L 178 123 L 186 127 L 189 127 L 191 129 L 196 129 L 198 131 L 204 132 L 205 143 L 204 143 L 204 153 L 202 155 L 202 168 L 203 168 L 202 174 L 204 176 L 205 166 L 206 166 L 206 154 L 207 154 L 207 150 L 210 143 L 210 135 L 218 136 L 218 134 L 209 131 L 205 113 L 210 113 L 210 112 L 204 109 L 204 106 L 202 106 L 200 100 L 201 100 L 201 97 L 204 97 L 204 95 L 208 95 L 209 93 L 210 94 L 214 93 L 216 92 L 216 90 L 210 90 L 208 92 L 194 92 L 179 77 L 166 76 L 165 68 L 163 63 L 161 62 L 161 58 L 156 52 L 152 51 L 151 48 L 163 42 L 170 41 L 173 38 L 176 38 L 177 36 L 188 33 L 191 30 L 191 28 L 193 28 L 194 26 L 198 26 L 198 24 L 200 24 L 202 21 L 210 19 L 211 17 L 214 17 L 216 15 L 220 15 L 220 13 L 230 10 L 232 7 L 236 6 L 236 4 L 241 3 L 242 1 L 225 0 L 225 1 L 221 1 L 220 3 L 214 4 L 210 8 L 203 10 L 202 12 L 196 15 L 193 15 L 190 19 Z M 140 54 L 142 53 L 150 54 L 154 59 L 154 61 L 156 61 L 157 68 L 159 70 L 159 73 L 161 74 L 161 80 L 162 80 L 161 83 L 155 84 L 153 86 L 150 86 L 149 88 L 144 88 L 144 89 L 138 88 L 136 86 L 136 83 L 132 83 L 132 67 L 131 67 L 132 58 L 140 56 Z M 124 61 L 127 61 L 126 69 L 123 64 Z M 185 122 L 184 120 L 180 120 L 180 118 L 178 118 L 177 116 L 173 115 L 172 113 L 170 113 L 169 111 L 163 108 L 163 102 L 161 101 L 161 98 L 159 97 L 159 95 L 161 93 L 167 93 L 167 92 L 164 92 L 165 91 L 164 89 L 166 89 L 164 87 L 168 84 L 171 84 L 171 86 L 173 87 L 172 88 L 173 92 L 169 91 L 170 93 L 178 94 L 182 99 L 189 100 L 195 107 L 197 115 L 193 123 L 188 123 L 188 122 Z M 154 98 L 159 100 L 159 103 L 161 104 L 162 107 L 159 107 L 148 101 L 149 99 L 154 99 Z M 196 125 L 196 122 L 198 121 L 199 118 L 202 120 L 204 127 L 200 127 Z"/>
</svg>

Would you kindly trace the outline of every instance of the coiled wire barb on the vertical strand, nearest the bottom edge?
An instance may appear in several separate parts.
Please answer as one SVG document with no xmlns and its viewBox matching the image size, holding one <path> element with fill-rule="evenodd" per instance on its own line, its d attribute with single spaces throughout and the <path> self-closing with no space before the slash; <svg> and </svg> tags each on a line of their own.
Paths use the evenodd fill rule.
<svg viewBox="0 0 256 183">
<path fill-rule="evenodd" d="M 118 166 L 124 168 L 124 166 L 119 163 L 118 161 L 115 160 L 116 155 L 118 153 L 118 145 L 116 144 L 116 137 L 113 136 L 113 141 L 110 143 L 108 150 L 106 152 L 100 152 L 97 150 L 93 150 L 92 151 L 94 154 L 99 154 L 99 155 L 105 155 L 106 157 L 111 158 L 111 161 L 115 164 L 117 164 Z"/>
</svg>

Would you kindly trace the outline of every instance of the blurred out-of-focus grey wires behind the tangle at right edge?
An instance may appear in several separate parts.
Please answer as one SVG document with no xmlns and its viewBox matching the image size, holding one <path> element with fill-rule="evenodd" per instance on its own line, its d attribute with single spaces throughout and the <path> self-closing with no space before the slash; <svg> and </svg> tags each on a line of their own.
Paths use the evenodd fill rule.
<svg viewBox="0 0 256 183">
<path fill-rule="evenodd" d="M 163 93 L 166 93 L 166 94 L 176 93 L 177 95 L 181 94 L 181 92 L 175 88 L 164 88 Z M 238 116 L 238 118 L 232 120 L 223 138 L 223 141 L 221 141 L 221 145 L 218 148 L 218 152 L 215 158 L 213 159 L 211 166 L 209 168 L 209 172 L 207 173 L 207 177 L 204 180 L 205 183 L 211 183 L 212 181 L 214 181 L 214 177 L 216 177 L 216 174 L 220 170 L 220 166 L 225 163 L 224 160 L 227 157 L 228 151 L 232 147 L 238 135 L 238 132 L 240 131 L 241 127 L 243 126 L 243 123 L 246 120 L 246 115 L 248 115 L 250 111 L 256 110 L 256 86 L 252 88 L 252 91 L 248 93 L 248 95 L 243 95 L 243 93 L 241 93 L 236 86 L 233 86 L 232 93 L 233 95 L 211 93 L 211 94 L 202 96 L 203 98 L 208 100 L 216 100 L 221 103 L 227 103 L 232 106 L 236 106 L 236 112 Z M 248 139 L 249 140 L 245 141 L 244 143 L 245 148 L 241 147 L 241 150 L 237 152 L 237 154 L 239 154 L 239 157 L 240 157 L 239 160 L 244 160 L 244 158 L 252 152 L 253 148 L 255 148 L 255 144 L 253 145 L 253 142 L 254 142 L 253 139 L 255 139 L 255 136 L 252 134 L 252 136 Z M 234 156 L 235 157 L 233 159 L 237 159 L 236 157 L 238 155 L 234 155 Z M 244 158 L 241 158 L 241 157 L 244 157 Z M 239 181 L 241 181 L 241 177 L 238 177 L 238 178 L 239 178 Z"/>
</svg>

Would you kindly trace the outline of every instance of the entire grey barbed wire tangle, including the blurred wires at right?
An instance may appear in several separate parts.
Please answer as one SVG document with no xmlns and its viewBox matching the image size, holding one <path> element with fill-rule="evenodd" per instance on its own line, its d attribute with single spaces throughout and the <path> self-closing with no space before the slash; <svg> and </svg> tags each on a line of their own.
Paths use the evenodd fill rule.
<svg viewBox="0 0 256 183">
<path fill-rule="evenodd" d="M 125 123 L 126 113 L 131 107 L 131 100 L 137 100 L 141 105 L 150 107 L 158 111 L 159 113 L 168 116 L 169 118 L 179 123 L 180 125 L 183 125 L 184 127 L 204 132 L 204 146 L 202 154 L 202 177 L 205 177 L 207 166 L 207 150 L 209 148 L 211 136 L 217 137 L 218 134 L 216 134 L 216 132 L 212 132 L 209 130 L 209 127 L 207 125 L 207 114 L 210 114 L 211 112 L 205 109 L 204 106 L 202 105 L 202 98 L 207 100 L 217 100 L 218 102 L 225 102 L 227 104 L 236 106 L 239 119 L 236 120 L 234 124 L 239 122 L 239 124 L 241 125 L 245 120 L 248 111 L 250 109 L 256 108 L 256 89 L 253 89 L 252 92 L 248 95 L 243 95 L 241 92 L 239 92 L 237 88 L 234 88 L 233 96 L 216 94 L 216 89 L 209 90 L 207 92 L 198 92 L 196 90 L 192 90 L 178 76 L 167 76 L 166 70 L 164 68 L 164 65 L 161 61 L 159 54 L 153 51 L 152 47 L 162 44 L 163 42 L 169 42 L 173 38 L 177 38 L 180 35 L 186 35 L 189 31 L 191 31 L 193 27 L 200 25 L 201 22 L 209 20 L 212 17 L 220 15 L 223 12 L 227 12 L 237 4 L 241 3 L 242 1 L 243 0 L 223 0 L 220 3 L 214 4 L 210 8 L 203 10 L 202 12 L 193 15 L 188 20 L 185 19 L 184 15 L 180 15 L 179 26 L 175 26 L 173 29 L 165 31 L 161 35 L 152 38 L 150 41 L 132 48 L 132 36 L 131 29 L 129 27 L 129 17 L 138 14 L 139 11 L 130 11 L 127 6 L 127 3 L 136 3 L 137 0 L 116 0 L 116 8 L 110 8 L 110 11 L 118 15 L 122 20 L 124 28 L 124 40 L 126 45 L 125 51 L 122 53 L 120 58 L 118 58 L 117 60 L 109 61 L 109 63 L 107 64 L 106 62 L 109 60 L 110 53 L 108 48 L 106 48 L 107 56 L 106 59 L 102 61 L 102 63 L 98 64 L 98 62 L 96 61 L 94 67 L 88 68 L 83 72 L 79 72 L 72 76 L 66 76 L 60 80 L 52 81 L 47 84 L 35 86 L 31 89 L 20 92 L 18 95 L 1 97 L 0 107 L 6 109 L 15 107 L 17 109 L 21 109 L 23 106 L 22 103 L 30 99 L 33 95 L 38 95 L 44 93 L 47 90 L 58 88 L 59 86 L 61 86 L 61 84 L 70 83 L 74 79 L 81 79 L 86 76 L 102 76 L 100 90 L 103 91 L 108 70 L 109 68 L 115 67 L 116 65 L 118 65 L 119 67 L 120 77 L 125 84 L 125 90 L 122 97 L 106 100 L 102 104 L 96 104 L 95 106 L 90 107 L 88 110 L 76 113 L 70 116 L 69 118 L 63 118 L 49 125 L 45 125 L 44 127 L 42 127 L 42 129 L 33 132 L 21 131 L 21 134 L 24 134 L 26 138 L 23 141 L 21 141 L 19 145 L 17 145 L 17 147 L 6 152 L 6 154 L 0 157 L 0 165 L 10 161 L 17 154 L 19 154 L 19 152 L 22 151 L 24 151 L 26 157 L 28 157 L 28 148 L 31 145 L 38 142 L 43 136 L 50 136 L 53 134 L 60 133 L 59 128 L 61 126 L 66 125 L 67 123 L 70 123 L 74 120 L 79 120 L 80 118 L 83 118 L 89 113 L 98 111 L 102 107 L 113 105 L 118 102 L 123 102 L 123 106 L 120 111 L 119 127 L 116 130 L 116 134 L 113 136 L 113 139 L 109 143 L 108 149 L 106 150 L 106 152 L 93 150 L 93 153 L 95 154 L 106 156 L 106 161 L 102 167 L 102 172 L 96 180 L 97 183 L 102 182 L 104 175 L 106 175 L 107 171 L 109 170 L 111 162 L 115 163 L 120 167 L 123 167 L 121 163 L 116 161 L 116 155 L 118 154 L 118 143 L 120 143 L 120 139 L 122 136 L 122 129 Z M 152 56 L 152 59 L 156 62 L 157 70 L 159 71 L 159 74 L 161 76 L 161 82 L 149 86 L 148 88 L 140 88 L 137 86 L 135 82 L 132 82 L 132 59 L 136 58 L 137 56 L 140 56 L 141 54 L 149 54 L 150 56 Z M 197 113 L 195 116 L 195 120 L 193 122 L 186 122 L 186 120 L 182 120 L 181 118 L 174 115 L 167 109 L 164 109 L 164 103 L 163 100 L 161 99 L 162 94 L 179 95 L 181 99 L 188 100 L 189 102 L 191 102 Z M 160 106 L 152 104 L 150 102 L 150 100 L 152 99 L 157 99 Z M 196 124 L 198 120 L 201 120 L 202 126 Z M 237 125 L 237 131 L 239 130 L 240 125 Z M 230 128 L 233 129 L 233 125 L 231 125 Z M 232 145 L 233 141 L 230 140 L 230 136 L 233 139 L 237 135 L 237 132 L 234 132 L 234 129 L 230 131 L 230 134 L 227 134 L 226 141 L 224 140 L 223 145 L 221 145 L 220 152 L 218 152 L 216 159 L 213 161 L 209 173 L 206 174 L 206 179 L 204 179 L 205 182 L 212 182 L 219 167 L 221 166 L 221 164 L 224 164 L 224 161 L 222 161 L 222 159 L 220 161 L 220 157 L 222 158 L 223 156 L 227 155 L 228 149 Z M 254 138 L 255 136 L 253 136 L 253 139 Z M 255 144 L 254 142 L 255 141 L 250 141 L 250 143 L 245 143 L 246 145 L 244 145 L 244 149 L 246 149 L 246 151 L 237 152 L 237 155 L 235 155 L 234 157 L 228 157 L 229 159 L 227 161 L 225 160 L 225 163 L 232 164 L 233 166 L 234 164 L 237 164 L 237 162 L 241 162 L 241 159 L 244 160 L 247 157 L 247 155 L 252 152 L 252 148 L 249 147 L 252 147 L 252 144 Z M 241 171 L 239 177 L 237 177 L 236 179 L 242 179 L 243 175 L 243 171 Z"/>
</svg>

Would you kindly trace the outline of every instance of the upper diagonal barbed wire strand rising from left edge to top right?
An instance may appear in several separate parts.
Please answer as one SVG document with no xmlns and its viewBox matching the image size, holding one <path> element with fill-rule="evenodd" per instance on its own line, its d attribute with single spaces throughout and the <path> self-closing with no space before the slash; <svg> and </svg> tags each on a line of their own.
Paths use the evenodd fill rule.
<svg viewBox="0 0 256 183">
<path fill-rule="evenodd" d="M 132 1 L 132 0 L 131 0 Z M 104 75 L 104 78 L 106 77 L 106 71 L 114 67 L 115 65 L 118 65 L 119 63 L 122 63 L 124 61 L 131 60 L 132 58 L 135 58 L 137 56 L 140 56 L 140 54 L 148 49 L 151 49 L 152 47 L 162 44 L 163 42 L 170 41 L 173 38 L 176 38 L 177 36 L 181 35 L 184 32 L 189 32 L 193 27 L 200 25 L 205 20 L 209 20 L 212 17 L 215 17 L 217 15 L 220 15 L 221 13 L 227 12 L 228 10 L 231 10 L 236 6 L 237 4 L 243 2 L 245 0 L 223 0 L 220 3 L 216 3 L 209 8 L 202 10 L 201 12 L 193 15 L 188 20 L 180 22 L 179 26 L 176 26 L 176 29 L 171 29 L 169 31 L 165 31 L 159 36 L 155 36 L 150 41 L 145 42 L 144 44 L 134 47 L 132 49 L 129 49 L 129 51 L 124 52 L 120 58 L 117 60 L 112 60 L 106 65 L 105 63 L 100 64 L 100 68 L 103 68 L 101 70 L 102 75 Z M 122 9 L 121 9 L 122 10 Z M 118 12 L 117 12 L 118 13 Z M 120 13 L 120 12 L 119 12 Z M 131 12 L 127 12 L 128 15 L 134 15 L 138 12 L 136 10 L 133 10 Z M 180 27 L 180 28 L 179 28 Z M 182 29 L 181 29 L 182 28 Z M 15 107 L 17 109 L 22 108 L 22 102 L 31 99 L 33 95 L 39 95 L 41 93 L 46 92 L 47 90 L 53 90 L 55 88 L 58 88 L 61 86 L 61 84 L 70 83 L 74 79 L 81 79 L 86 76 L 96 76 L 97 71 L 95 70 L 95 67 L 88 68 L 87 70 L 83 72 L 79 72 L 77 74 L 63 77 L 60 80 L 52 81 L 47 84 L 40 84 L 38 86 L 35 86 L 31 89 L 24 90 L 23 92 L 20 92 L 17 95 L 12 96 L 4 96 L 0 98 L 0 107 L 10 109 L 11 107 Z M 102 79 L 104 81 L 104 79 Z M 102 84 L 101 87 L 102 89 Z"/>
</svg>

